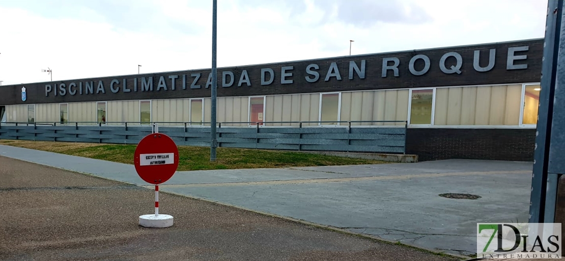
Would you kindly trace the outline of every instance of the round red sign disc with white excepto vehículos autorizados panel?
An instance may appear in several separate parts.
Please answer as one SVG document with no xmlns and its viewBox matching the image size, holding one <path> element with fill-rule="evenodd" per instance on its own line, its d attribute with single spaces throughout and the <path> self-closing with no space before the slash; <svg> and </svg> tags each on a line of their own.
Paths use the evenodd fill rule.
<svg viewBox="0 0 565 261">
<path fill-rule="evenodd" d="M 141 179 L 158 185 L 175 174 L 179 167 L 179 149 L 169 136 L 149 134 L 137 144 L 133 162 Z"/>
</svg>

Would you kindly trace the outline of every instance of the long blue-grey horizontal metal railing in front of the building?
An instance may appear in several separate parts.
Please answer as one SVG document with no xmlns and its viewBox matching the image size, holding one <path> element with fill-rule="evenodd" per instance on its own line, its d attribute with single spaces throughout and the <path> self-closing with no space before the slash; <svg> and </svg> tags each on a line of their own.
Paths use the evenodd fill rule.
<svg viewBox="0 0 565 261">
<path fill-rule="evenodd" d="M 334 126 L 308 126 L 307 123 L 347 123 Z M 178 145 L 210 145 L 210 126 L 206 122 L 2 122 L 0 139 L 75 141 L 137 144 L 153 129 L 167 134 Z M 163 124 L 176 124 L 163 125 Z M 189 127 L 198 123 L 198 127 Z M 249 126 L 225 126 L 244 123 Z M 256 123 L 256 125 L 250 125 Z M 294 123 L 298 126 L 262 126 Z M 403 123 L 402 125 L 362 125 L 355 123 Z M 111 125 L 119 124 L 119 125 Z M 180 126 L 179 126 L 180 125 Z M 184 128 L 181 128 L 183 127 Z M 406 152 L 406 121 L 271 121 L 218 122 L 219 147 L 280 149 L 297 151 Z M 225 127 L 224 127 L 225 126 Z M 250 128 L 251 127 L 251 128 Z M 368 128 L 360 128 L 368 127 Z"/>
</svg>

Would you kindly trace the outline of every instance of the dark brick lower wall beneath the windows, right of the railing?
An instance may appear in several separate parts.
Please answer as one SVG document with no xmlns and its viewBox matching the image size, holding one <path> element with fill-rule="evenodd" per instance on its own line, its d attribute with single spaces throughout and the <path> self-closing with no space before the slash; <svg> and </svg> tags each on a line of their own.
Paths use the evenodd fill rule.
<svg viewBox="0 0 565 261">
<path fill-rule="evenodd" d="M 535 129 L 408 129 L 406 153 L 419 161 L 468 158 L 533 161 Z"/>
</svg>

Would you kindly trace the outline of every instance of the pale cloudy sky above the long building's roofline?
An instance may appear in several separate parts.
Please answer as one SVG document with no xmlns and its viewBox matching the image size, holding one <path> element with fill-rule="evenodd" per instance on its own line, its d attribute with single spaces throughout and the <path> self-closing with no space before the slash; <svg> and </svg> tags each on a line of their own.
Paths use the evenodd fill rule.
<svg viewBox="0 0 565 261">
<path fill-rule="evenodd" d="M 218 67 L 542 38 L 541 0 L 218 0 Z M 2 85 L 211 68 L 211 0 L 0 0 Z M 138 67 L 138 65 L 142 65 Z"/>
</svg>

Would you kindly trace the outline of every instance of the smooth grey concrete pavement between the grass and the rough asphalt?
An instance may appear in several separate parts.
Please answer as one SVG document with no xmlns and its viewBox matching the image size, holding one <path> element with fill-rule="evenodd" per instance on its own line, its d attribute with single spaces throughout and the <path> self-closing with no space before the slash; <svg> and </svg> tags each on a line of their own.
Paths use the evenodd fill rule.
<svg viewBox="0 0 565 261">
<path fill-rule="evenodd" d="M 146 185 L 133 165 L 0 145 L 0 155 Z M 180 171 L 161 191 L 306 220 L 458 255 L 477 222 L 527 220 L 531 162 L 447 160 L 383 165 Z M 478 200 L 440 197 L 465 193 Z"/>
</svg>

